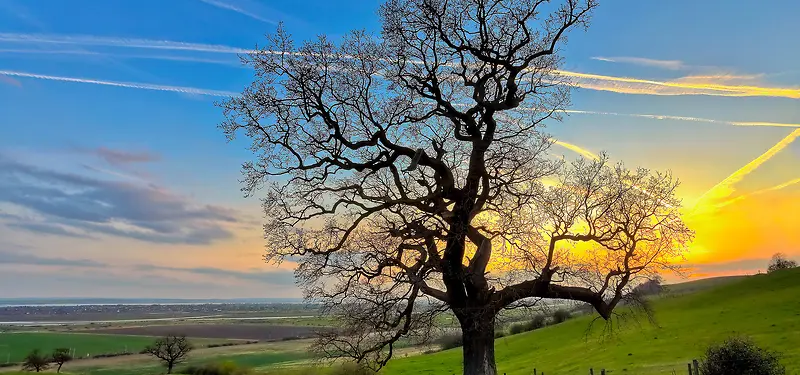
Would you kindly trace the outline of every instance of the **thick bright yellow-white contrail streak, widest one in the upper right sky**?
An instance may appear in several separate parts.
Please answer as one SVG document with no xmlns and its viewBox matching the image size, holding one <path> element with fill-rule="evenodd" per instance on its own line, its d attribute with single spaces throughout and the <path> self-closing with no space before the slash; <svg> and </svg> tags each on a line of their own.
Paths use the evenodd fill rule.
<svg viewBox="0 0 800 375">
<path fill-rule="evenodd" d="M 656 81 L 640 78 L 616 77 L 600 74 L 557 71 L 568 77 L 578 87 L 635 95 L 710 95 L 732 97 L 776 97 L 800 99 L 799 88 L 765 87 L 726 84 L 725 79 L 683 77 L 672 81 Z M 727 78 L 726 78 L 727 79 Z"/>
</svg>

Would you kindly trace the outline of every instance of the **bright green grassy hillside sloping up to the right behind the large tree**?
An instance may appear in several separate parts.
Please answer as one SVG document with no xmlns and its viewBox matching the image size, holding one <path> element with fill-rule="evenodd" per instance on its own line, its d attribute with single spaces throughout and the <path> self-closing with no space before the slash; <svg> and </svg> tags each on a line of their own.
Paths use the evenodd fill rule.
<svg viewBox="0 0 800 375">
<path fill-rule="evenodd" d="M 789 374 L 800 374 L 800 269 L 757 275 L 654 303 L 658 326 L 614 322 L 613 334 L 588 317 L 497 340 L 500 373 L 586 374 L 590 367 L 611 374 L 677 374 L 704 348 L 733 333 L 753 337 L 784 354 Z M 460 374 L 460 349 L 401 358 L 390 375 Z M 595 373 L 598 373 L 597 371 Z"/>
</svg>

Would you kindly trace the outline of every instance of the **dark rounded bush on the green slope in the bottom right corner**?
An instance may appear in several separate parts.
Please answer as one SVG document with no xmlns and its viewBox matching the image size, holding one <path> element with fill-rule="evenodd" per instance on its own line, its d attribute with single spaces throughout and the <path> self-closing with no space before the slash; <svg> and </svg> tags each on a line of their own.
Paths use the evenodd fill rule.
<svg viewBox="0 0 800 375">
<path fill-rule="evenodd" d="M 703 356 L 703 375 L 784 375 L 778 354 L 759 348 L 750 339 L 734 336 L 711 345 Z"/>
</svg>

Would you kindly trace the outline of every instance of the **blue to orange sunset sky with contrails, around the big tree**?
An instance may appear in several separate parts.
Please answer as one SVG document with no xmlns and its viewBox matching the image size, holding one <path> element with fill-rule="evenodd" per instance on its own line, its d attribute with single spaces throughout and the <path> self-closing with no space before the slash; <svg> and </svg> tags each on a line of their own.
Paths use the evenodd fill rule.
<svg viewBox="0 0 800 375">
<path fill-rule="evenodd" d="M 214 102 L 278 22 L 380 29 L 379 1 L 0 0 L 0 297 L 296 297 Z M 554 152 L 670 170 L 686 277 L 800 259 L 800 2 L 603 1 L 563 48 Z"/>
</svg>

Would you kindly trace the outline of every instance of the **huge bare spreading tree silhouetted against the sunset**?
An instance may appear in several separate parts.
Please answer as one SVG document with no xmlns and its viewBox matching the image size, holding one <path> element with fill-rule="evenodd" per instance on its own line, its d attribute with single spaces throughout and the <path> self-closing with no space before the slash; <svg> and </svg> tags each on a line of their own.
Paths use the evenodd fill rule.
<svg viewBox="0 0 800 375">
<path fill-rule="evenodd" d="M 543 133 L 569 85 L 559 45 L 594 0 L 389 0 L 381 38 L 295 46 L 283 30 L 245 57 L 256 79 L 220 105 L 256 159 L 266 259 L 297 262 L 308 298 L 344 328 L 317 348 L 384 365 L 451 311 L 464 373 L 496 374 L 494 319 L 540 299 L 609 319 L 692 233 L 669 174 L 606 157 L 565 163 Z"/>
</svg>

